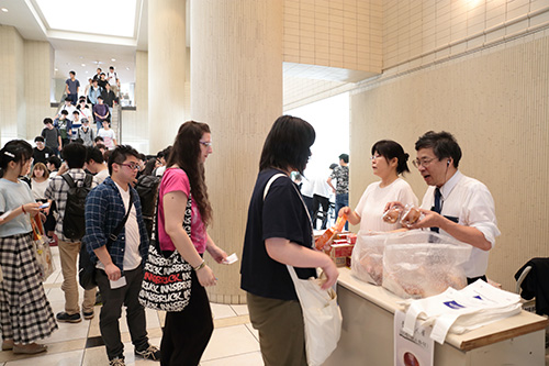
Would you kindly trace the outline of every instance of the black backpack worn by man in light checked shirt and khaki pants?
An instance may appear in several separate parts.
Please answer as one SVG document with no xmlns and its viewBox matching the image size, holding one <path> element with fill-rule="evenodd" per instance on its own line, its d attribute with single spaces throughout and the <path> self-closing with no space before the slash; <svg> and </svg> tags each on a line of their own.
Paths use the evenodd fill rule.
<svg viewBox="0 0 549 366">
<path fill-rule="evenodd" d="M 63 218 L 63 235 L 67 239 L 79 241 L 86 233 L 86 220 L 83 218 L 83 208 L 86 197 L 91 190 L 91 180 L 93 176 L 86 174 L 83 184 L 78 187 L 72 177 L 65 173 L 63 179 L 69 185 L 67 192 L 67 204 L 65 206 L 65 217 Z"/>
</svg>

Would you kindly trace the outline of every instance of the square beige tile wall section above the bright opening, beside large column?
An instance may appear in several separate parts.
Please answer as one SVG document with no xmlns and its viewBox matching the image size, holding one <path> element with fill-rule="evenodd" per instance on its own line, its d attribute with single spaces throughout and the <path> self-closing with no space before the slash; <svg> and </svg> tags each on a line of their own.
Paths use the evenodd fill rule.
<svg viewBox="0 0 549 366">
<path fill-rule="evenodd" d="M 381 70 L 381 0 L 285 0 L 283 25 L 284 62 Z"/>
</svg>

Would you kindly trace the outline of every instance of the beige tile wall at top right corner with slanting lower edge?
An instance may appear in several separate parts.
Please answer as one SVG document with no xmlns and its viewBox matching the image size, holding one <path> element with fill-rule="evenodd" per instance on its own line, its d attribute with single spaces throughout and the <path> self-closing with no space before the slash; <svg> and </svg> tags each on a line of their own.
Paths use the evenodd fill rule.
<svg viewBox="0 0 549 366">
<path fill-rule="evenodd" d="M 383 2 L 383 69 L 425 65 L 547 25 L 548 0 Z"/>
</svg>

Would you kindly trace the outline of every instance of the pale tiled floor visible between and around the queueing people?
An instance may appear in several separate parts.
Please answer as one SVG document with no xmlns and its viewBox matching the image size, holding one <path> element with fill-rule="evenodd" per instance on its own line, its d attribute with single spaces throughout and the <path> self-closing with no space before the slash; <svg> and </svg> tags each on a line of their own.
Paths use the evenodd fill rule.
<svg viewBox="0 0 549 366">
<path fill-rule="evenodd" d="M 46 295 L 54 313 L 64 310 L 64 295 L 60 289 L 63 275 L 58 248 L 52 247 L 56 271 L 44 284 Z M 80 289 L 81 290 L 81 289 Z M 80 297 L 81 299 L 81 297 Z M 92 320 L 82 320 L 77 324 L 59 323 L 59 329 L 51 337 L 42 341 L 48 346 L 43 354 L 26 356 L 14 355 L 11 351 L 0 352 L 0 366 L 100 366 L 109 365 L 103 345 L 94 346 L 100 339 L 99 311 Z M 212 303 L 215 329 L 208 348 L 202 356 L 202 366 L 258 366 L 262 365 L 257 332 L 251 328 L 246 306 Z M 150 343 L 160 344 L 164 313 L 147 310 L 147 330 Z M 122 340 L 125 346 L 126 365 L 159 365 L 153 361 L 135 359 L 130 341 L 125 315 L 121 319 Z M 88 342 L 89 340 L 89 342 Z M 87 345 L 87 343 L 89 343 Z M 102 342 L 100 342 L 102 343 Z"/>
</svg>

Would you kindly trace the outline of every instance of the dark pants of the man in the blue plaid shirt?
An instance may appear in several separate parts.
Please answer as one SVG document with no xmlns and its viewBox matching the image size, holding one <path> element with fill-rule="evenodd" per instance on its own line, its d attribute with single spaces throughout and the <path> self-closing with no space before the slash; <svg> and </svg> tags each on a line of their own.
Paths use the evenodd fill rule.
<svg viewBox="0 0 549 366">
<path fill-rule="evenodd" d="M 126 277 L 126 286 L 112 290 L 104 270 L 96 270 L 96 280 L 103 300 L 99 328 L 107 346 L 109 359 L 124 357 L 124 344 L 120 336 L 122 306 L 126 307 L 127 329 L 135 350 L 143 351 L 148 347 L 145 309 L 138 300 L 143 282 L 143 269 L 139 266 L 133 270 L 125 270 L 124 276 Z"/>
</svg>

